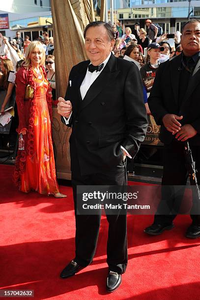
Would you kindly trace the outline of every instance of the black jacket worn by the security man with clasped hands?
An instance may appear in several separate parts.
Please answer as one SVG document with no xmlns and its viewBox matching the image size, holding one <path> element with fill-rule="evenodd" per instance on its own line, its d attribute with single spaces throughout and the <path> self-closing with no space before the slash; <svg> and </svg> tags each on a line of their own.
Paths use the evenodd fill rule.
<svg viewBox="0 0 200 300">
<path fill-rule="evenodd" d="M 162 119 L 166 114 L 175 114 L 183 116 L 181 121 L 178 120 L 182 125 L 191 124 L 198 131 L 198 134 L 190 139 L 190 144 L 200 146 L 200 60 L 190 76 L 184 99 L 179 105 L 181 59 L 182 54 L 159 66 L 148 105 L 156 124 L 161 125 L 160 140 L 163 143 L 170 144 L 175 137 L 165 128 Z"/>
</svg>

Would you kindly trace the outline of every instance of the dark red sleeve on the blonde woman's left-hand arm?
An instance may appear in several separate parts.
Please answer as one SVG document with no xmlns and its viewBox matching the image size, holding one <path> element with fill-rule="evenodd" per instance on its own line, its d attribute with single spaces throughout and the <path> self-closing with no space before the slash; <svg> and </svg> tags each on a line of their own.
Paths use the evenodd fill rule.
<svg viewBox="0 0 200 300">
<path fill-rule="evenodd" d="M 27 129 L 26 121 L 25 121 L 25 108 L 24 108 L 24 96 L 26 91 L 26 70 L 25 68 L 21 68 L 16 73 L 16 103 L 17 103 L 17 111 L 19 116 L 19 127 L 17 128 L 17 132 L 20 133 L 22 130 Z"/>
</svg>

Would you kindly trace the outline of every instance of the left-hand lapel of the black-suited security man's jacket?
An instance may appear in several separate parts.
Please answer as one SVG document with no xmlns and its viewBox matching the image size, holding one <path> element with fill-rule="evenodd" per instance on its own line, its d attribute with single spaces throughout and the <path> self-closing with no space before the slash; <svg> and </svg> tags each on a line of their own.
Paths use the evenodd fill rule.
<svg viewBox="0 0 200 300">
<path fill-rule="evenodd" d="M 181 71 L 181 55 L 178 55 L 175 59 L 171 60 L 170 64 L 170 77 L 171 77 L 171 86 L 173 90 L 174 100 L 178 104 L 178 90 L 179 90 L 179 80 L 180 80 L 180 71 Z"/>
</svg>

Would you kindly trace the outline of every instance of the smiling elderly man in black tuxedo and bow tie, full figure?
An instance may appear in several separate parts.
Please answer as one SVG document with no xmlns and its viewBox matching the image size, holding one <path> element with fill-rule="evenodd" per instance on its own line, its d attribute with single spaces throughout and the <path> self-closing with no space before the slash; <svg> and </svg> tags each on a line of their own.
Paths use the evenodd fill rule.
<svg viewBox="0 0 200 300">
<path fill-rule="evenodd" d="M 136 155 L 147 128 L 139 70 L 112 54 L 111 25 L 92 22 L 84 37 L 89 60 L 72 68 L 65 99 L 58 99 L 62 122 L 72 126 L 69 142 L 76 217 L 76 255 L 61 278 L 75 275 L 92 262 L 99 233 L 100 215 L 76 214 L 77 185 L 125 185 L 126 155 Z M 107 215 L 107 220 L 107 291 L 113 292 L 127 266 L 126 215 Z"/>
</svg>

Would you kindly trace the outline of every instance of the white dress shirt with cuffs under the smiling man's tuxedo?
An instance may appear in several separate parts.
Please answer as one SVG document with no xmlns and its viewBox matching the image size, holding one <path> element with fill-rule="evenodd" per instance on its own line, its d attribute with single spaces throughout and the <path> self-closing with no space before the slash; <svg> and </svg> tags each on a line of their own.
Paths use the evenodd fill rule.
<svg viewBox="0 0 200 300">
<path fill-rule="evenodd" d="M 85 96 L 86 96 L 86 93 L 88 91 L 88 89 L 90 88 L 90 86 L 92 85 L 92 83 L 96 80 L 96 78 L 101 74 L 101 72 L 103 71 L 103 69 L 105 68 L 107 62 L 109 61 L 109 58 L 111 57 L 111 52 L 109 54 L 109 56 L 103 61 L 103 68 L 101 69 L 101 71 L 94 71 L 94 72 L 89 72 L 88 71 L 88 68 L 87 68 L 87 72 L 86 72 L 86 76 L 82 82 L 82 85 L 80 87 L 80 92 L 81 92 L 81 97 L 82 97 L 82 100 L 84 100 Z M 71 82 L 70 82 L 70 86 L 71 86 Z M 72 112 L 71 112 L 72 114 Z M 64 121 L 65 121 L 65 124 L 68 125 L 69 124 L 69 119 L 71 117 L 71 114 L 69 116 L 68 119 L 66 119 L 65 117 L 64 118 Z M 121 149 L 124 150 L 127 154 L 128 157 L 132 158 L 132 156 L 128 153 L 128 151 L 126 149 L 124 149 L 122 146 L 121 146 Z"/>
</svg>

